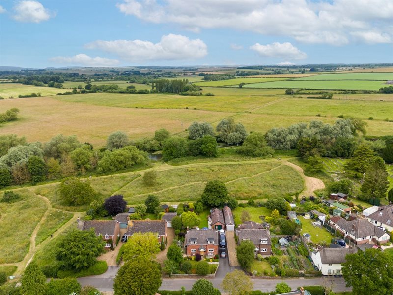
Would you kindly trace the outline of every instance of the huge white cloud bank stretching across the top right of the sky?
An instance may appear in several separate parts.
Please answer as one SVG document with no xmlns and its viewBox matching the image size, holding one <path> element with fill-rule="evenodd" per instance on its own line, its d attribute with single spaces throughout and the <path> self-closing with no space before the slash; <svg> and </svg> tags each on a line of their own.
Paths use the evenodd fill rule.
<svg viewBox="0 0 393 295">
<path fill-rule="evenodd" d="M 231 28 L 344 45 L 360 40 L 354 32 L 372 30 L 393 42 L 392 0 L 123 0 L 116 6 L 146 22 L 174 23 L 193 31 Z"/>
</svg>

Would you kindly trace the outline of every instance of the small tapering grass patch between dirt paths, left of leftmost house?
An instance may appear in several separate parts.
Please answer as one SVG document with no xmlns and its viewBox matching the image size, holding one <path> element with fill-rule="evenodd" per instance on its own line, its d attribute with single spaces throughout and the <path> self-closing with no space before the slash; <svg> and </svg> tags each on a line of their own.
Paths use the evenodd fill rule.
<svg viewBox="0 0 393 295">
<path fill-rule="evenodd" d="M 38 230 L 37 236 L 35 237 L 35 244 L 38 245 L 44 241 L 47 237 L 51 236 L 54 232 L 62 227 L 68 220 L 70 220 L 74 214 L 63 212 L 61 210 L 51 209 L 49 214 L 46 216 L 44 223 Z"/>
</svg>

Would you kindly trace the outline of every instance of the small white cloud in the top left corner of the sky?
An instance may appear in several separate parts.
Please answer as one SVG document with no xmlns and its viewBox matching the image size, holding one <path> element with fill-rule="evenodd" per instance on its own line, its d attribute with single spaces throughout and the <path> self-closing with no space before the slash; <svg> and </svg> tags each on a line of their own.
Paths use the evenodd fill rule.
<svg viewBox="0 0 393 295">
<path fill-rule="evenodd" d="M 23 23 L 40 23 L 54 17 L 56 13 L 46 9 L 38 1 L 20 1 L 14 6 L 14 20 Z"/>
</svg>

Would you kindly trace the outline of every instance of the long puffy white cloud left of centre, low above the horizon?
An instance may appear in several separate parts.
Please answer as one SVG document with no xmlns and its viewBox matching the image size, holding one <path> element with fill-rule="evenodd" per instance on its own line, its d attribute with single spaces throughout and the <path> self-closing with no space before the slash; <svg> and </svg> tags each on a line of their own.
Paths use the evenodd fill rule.
<svg viewBox="0 0 393 295">
<path fill-rule="evenodd" d="M 160 42 L 143 40 L 97 40 L 85 45 L 87 49 L 100 49 L 129 61 L 197 59 L 207 55 L 207 46 L 200 39 L 168 34 Z"/>
</svg>

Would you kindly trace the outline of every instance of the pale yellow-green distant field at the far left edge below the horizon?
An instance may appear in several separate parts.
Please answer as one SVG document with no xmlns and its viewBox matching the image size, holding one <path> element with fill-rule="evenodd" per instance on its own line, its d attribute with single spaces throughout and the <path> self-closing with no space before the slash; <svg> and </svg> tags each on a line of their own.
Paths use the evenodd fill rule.
<svg viewBox="0 0 393 295">
<path fill-rule="evenodd" d="M 30 95 L 31 93 L 41 93 L 41 96 L 48 96 L 63 93 L 65 91 L 69 91 L 69 89 L 24 85 L 20 83 L 0 83 L 0 96 L 3 98 L 9 98 L 10 96 L 16 98 L 19 94 Z"/>
</svg>

